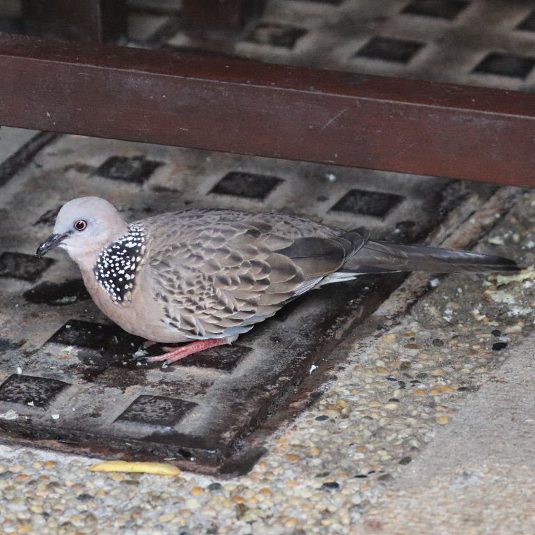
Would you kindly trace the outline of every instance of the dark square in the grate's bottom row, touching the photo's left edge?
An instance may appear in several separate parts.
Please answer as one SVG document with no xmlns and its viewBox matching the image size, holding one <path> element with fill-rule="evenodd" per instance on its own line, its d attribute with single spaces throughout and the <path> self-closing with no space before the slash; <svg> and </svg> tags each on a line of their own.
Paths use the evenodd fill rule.
<svg viewBox="0 0 535 535">
<path fill-rule="evenodd" d="M 32 375 L 10 375 L 0 385 L 0 401 L 21 403 L 45 409 L 54 398 L 65 388 L 67 382 Z"/>
</svg>

